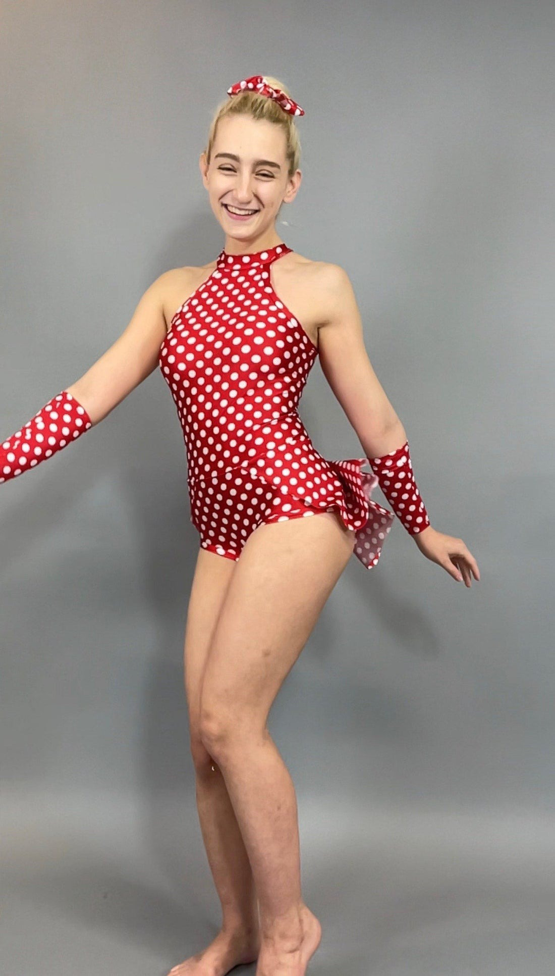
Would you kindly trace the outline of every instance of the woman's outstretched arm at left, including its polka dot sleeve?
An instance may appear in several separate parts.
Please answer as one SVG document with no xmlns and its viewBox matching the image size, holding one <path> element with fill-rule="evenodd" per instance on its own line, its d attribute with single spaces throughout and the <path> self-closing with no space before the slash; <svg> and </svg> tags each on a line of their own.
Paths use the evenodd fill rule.
<svg viewBox="0 0 555 976">
<path fill-rule="evenodd" d="M 127 328 L 90 369 L 0 444 L 0 484 L 36 468 L 95 427 L 154 371 L 166 336 L 163 293 L 171 273 L 146 289 Z"/>
</svg>

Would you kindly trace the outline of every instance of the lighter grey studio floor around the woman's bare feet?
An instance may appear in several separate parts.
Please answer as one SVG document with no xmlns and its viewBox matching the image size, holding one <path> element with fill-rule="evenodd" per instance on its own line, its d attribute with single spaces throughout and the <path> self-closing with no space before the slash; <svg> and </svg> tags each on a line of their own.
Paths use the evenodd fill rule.
<svg viewBox="0 0 555 976">
<path fill-rule="evenodd" d="M 190 797 L 5 795 L 2 972 L 166 976 L 218 931 Z M 552 976 L 555 830 L 524 814 L 299 799 L 321 976 Z M 233 972 L 254 974 L 256 966 Z"/>
</svg>

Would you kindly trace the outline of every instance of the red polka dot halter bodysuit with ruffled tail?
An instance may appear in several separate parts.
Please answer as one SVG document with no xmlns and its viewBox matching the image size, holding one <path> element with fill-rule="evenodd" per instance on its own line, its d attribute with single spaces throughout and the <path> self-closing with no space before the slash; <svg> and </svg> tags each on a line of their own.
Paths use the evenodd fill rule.
<svg viewBox="0 0 555 976">
<path fill-rule="evenodd" d="M 318 349 L 270 280 L 271 264 L 292 250 L 222 250 L 160 346 L 185 443 L 190 520 L 202 549 L 238 559 L 262 523 L 337 510 L 371 569 L 394 515 L 371 498 L 368 459 L 327 461 L 298 416 Z"/>
</svg>

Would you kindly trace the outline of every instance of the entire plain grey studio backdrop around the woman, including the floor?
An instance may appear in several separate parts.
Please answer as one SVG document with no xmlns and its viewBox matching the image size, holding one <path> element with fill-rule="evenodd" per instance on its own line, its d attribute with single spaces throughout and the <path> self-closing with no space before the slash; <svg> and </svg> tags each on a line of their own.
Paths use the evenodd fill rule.
<svg viewBox="0 0 555 976">
<path fill-rule="evenodd" d="M 278 231 L 347 270 L 432 524 L 478 560 L 466 590 L 396 520 L 271 712 L 315 973 L 551 972 L 554 27 L 547 0 L 2 3 L 2 435 L 216 257 L 198 156 L 227 87 L 274 74 L 306 112 Z M 300 412 L 361 456 L 318 362 Z M 166 973 L 218 929 L 185 475 L 157 370 L 0 487 L 6 971 Z"/>
</svg>

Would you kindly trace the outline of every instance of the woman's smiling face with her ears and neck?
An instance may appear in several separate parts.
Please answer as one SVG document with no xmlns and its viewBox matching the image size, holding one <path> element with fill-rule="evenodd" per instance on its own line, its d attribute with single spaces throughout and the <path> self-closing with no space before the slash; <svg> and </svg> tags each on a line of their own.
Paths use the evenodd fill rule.
<svg viewBox="0 0 555 976">
<path fill-rule="evenodd" d="M 210 165 L 201 153 L 202 180 L 230 254 L 280 243 L 274 224 L 282 203 L 295 199 L 301 180 L 300 170 L 288 176 L 285 153 L 281 126 L 250 115 L 225 115 L 218 122 Z M 227 207 L 255 213 L 234 216 Z"/>
</svg>

